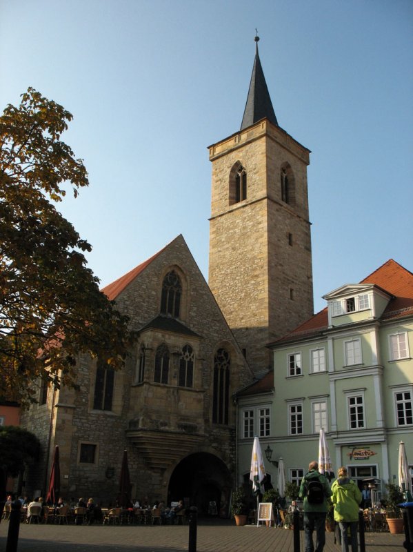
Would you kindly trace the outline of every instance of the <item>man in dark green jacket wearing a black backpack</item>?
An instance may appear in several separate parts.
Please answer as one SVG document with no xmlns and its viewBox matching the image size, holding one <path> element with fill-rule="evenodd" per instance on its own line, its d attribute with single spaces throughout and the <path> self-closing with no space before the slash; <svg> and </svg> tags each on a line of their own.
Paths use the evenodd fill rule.
<svg viewBox="0 0 413 552">
<path fill-rule="evenodd" d="M 305 552 L 323 552 L 325 544 L 325 516 L 328 511 L 327 499 L 332 495 L 327 477 L 319 473 L 319 463 L 310 462 L 308 473 L 301 481 L 299 497 L 304 499 Z M 316 548 L 312 533 L 316 531 Z"/>
</svg>

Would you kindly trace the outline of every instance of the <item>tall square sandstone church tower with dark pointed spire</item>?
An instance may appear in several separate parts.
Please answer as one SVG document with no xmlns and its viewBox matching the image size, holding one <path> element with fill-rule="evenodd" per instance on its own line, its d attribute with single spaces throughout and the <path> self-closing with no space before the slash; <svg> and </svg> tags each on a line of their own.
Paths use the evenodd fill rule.
<svg viewBox="0 0 413 552">
<path fill-rule="evenodd" d="M 307 166 L 310 150 L 283 130 L 258 41 L 241 130 L 209 146 L 209 286 L 256 375 L 269 342 L 313 314 Z"/>
</svg>

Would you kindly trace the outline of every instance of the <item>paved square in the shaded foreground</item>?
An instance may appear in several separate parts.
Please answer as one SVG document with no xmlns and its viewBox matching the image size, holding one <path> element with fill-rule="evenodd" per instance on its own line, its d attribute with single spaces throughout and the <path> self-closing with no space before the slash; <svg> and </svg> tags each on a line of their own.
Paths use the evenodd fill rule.
<svg viewBox="0 0 413 552">
<path fill-rule="evenodd" d="M 0 550 L 6 550 L 8 522 L 0 524 Z M 75 526 L 21 524 L 18 552 L 181 552 L 188 551 L 185 526 Z M 304 533 L 300 532 L 301 551 Z M 402 552 L 404 535 L 365 533 L 366 552 Z M 234 522 L 197 527 L 197 552 L 293 552 L 293 532 Z M 326 533 L 325 552 L 340 552 L 334 534 Z"/>
</svg>

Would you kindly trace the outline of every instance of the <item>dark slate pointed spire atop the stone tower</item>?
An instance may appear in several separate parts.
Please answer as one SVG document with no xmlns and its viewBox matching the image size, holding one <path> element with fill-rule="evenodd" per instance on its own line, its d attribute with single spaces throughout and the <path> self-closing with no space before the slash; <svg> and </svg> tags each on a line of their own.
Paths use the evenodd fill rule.
<svg viewBox="0 0 413 552">
<path fill-rule="evenodd" d="M 253 125 L 260 119 L 264 119 L 264 117 L 266 117 L 274 125 L 278 126 L 274 108 L 272 107 L 270 93 L 268 92 L 267 83 L 265 82 L 263 68 L 261 67 L 261 61 L 259 60 L 258 35 L 254 37 L 254 41 L 254 67 L 252 68 L 250 90 L 248 90 L 247 103 L 245 104 L 241 130 Z"/>
</svg>

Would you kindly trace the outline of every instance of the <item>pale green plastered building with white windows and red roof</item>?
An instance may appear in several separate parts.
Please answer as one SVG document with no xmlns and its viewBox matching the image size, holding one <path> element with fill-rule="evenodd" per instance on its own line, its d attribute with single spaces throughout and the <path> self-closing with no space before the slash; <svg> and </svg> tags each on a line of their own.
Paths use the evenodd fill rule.
<svg viewBox="0 0 413 552">
<path fill-rule="evenodd" d="M 380 497 L 398 480 L 401 440 L 413 468 L 413 274 L 390 259 L 323 298 L 323 311 L 269 344 L 274 372 L 236 395 L 239 482 L 258 435 L 273 486 L 279 457 L 299 483 L 323 428 L 333 470 L 347 466 L 360 486 L 380 480 Z"/>
</svg>

